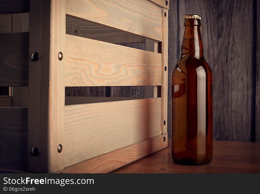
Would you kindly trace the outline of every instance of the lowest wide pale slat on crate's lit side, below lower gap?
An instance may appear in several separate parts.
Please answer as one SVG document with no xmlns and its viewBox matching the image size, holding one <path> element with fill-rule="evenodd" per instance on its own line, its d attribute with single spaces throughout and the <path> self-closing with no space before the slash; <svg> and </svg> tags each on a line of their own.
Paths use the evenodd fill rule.
<svg viewBox="0 0 260 194">
<path fill-rule="evenodd" d="M 160 134 L 160 98 L 65 106 L 64 166 Z"/>
</svg>

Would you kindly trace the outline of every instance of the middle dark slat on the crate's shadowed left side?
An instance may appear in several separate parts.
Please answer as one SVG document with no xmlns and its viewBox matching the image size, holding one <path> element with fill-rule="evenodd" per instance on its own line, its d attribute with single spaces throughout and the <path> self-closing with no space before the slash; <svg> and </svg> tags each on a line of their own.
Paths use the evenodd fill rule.
<svg viewBox="0 0 260 194">
<path fill-rule="evenodd" d="M 0 36 L 0 86 L 28 86 L 29 32 Z"/>
</svg>

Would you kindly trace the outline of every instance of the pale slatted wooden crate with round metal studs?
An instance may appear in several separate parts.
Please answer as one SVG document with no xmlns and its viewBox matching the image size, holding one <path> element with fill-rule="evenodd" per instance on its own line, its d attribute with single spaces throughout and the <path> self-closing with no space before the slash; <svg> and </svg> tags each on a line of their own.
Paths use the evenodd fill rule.
<svg viewBox="0 0 260 194">
<path fill-rule="evenodd" d="M 169 0 L 3 5 L 0 85 L 12 96 L 0 97 L 0 169 L 111 172 L 167 146 Z M 117 44 L 131 42 L 147 50 Z M 74 86 L 147 91 L 139 99 L 65 98 Z"/>
</svg>

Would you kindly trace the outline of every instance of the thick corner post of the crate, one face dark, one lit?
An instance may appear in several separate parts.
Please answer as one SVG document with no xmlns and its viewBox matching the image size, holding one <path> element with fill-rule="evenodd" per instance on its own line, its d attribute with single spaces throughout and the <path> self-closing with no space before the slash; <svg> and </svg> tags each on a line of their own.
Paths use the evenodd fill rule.
<svg viewBox="0 0 260 194">
<path fill-rule="evenodd" d="M 64 58 L 66 13 L 63 0 L 30 1 L 28 171 L 56 172 L 64 169 Z M 32 148 L 39 154 L 33 156 Z"/>
</svg>

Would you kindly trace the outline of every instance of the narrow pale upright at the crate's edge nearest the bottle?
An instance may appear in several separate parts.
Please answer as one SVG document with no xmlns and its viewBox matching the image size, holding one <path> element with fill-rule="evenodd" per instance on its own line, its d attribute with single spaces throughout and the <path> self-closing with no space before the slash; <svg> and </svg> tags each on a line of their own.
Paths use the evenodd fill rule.
<svg viewBox="0 0 260 194">
<path fill-rule="evenodd" d="M 165 71 L 166 70 L 166 71 Z M 168 98 L 168 10 L 162 9 L 162 88 L 161 134 L 167 133 Z"/>
</svg>

